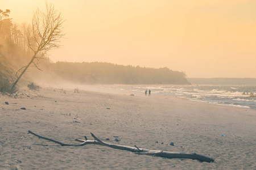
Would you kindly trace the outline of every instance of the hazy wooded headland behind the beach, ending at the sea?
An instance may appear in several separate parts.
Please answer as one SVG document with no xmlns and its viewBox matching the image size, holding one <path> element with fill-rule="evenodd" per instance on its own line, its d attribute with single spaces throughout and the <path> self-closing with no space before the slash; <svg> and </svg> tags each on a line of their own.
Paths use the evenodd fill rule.
<svg viewBox="0 0 256 170">
<path fill-rule="evenodd" d="M 154 69 L 107 62 L 48 63 L 48 73 L 82 84 L 189 84 L 186 75 L 167 67 Z"/>
</svg>

